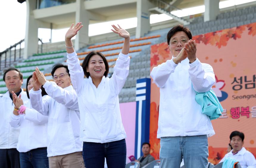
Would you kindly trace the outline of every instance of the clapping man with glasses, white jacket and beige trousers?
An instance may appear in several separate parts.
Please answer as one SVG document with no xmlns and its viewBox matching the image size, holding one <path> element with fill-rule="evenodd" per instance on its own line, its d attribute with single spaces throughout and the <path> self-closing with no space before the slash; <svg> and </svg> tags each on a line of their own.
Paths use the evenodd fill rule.
<svg viewBox="0 0 256 168">
<path fill-rule="evenodd" d="M 47 81 L 38 68 L 33 73 L 33 89 L 29 91 L 32 107 L 49 116 L 47 156 L 51 168 L 84 168 L 82 142 L 79 140 L 80 113 L 77 94 L 71 85 L 67 65 L 56 64 Z M 41 85 L 49 99 L 42 100 Z"/>
</svg>

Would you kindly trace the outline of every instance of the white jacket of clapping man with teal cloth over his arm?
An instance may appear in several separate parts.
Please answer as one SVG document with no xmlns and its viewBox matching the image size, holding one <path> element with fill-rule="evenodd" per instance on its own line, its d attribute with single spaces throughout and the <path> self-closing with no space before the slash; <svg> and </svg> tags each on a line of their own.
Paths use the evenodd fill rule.
<svg viewBox="0 0 256 168">
<path fill-rule="evenodd" d="M 160 87 L 157 138 L 215 134 L 195 100 L 196 91 L 208 92 L 215 82 L 209 64 L 198 59 L 190 64 L 188 58 L 175 64 L 171 59 L 154 67 L 150 75 Z"/>
</svg>

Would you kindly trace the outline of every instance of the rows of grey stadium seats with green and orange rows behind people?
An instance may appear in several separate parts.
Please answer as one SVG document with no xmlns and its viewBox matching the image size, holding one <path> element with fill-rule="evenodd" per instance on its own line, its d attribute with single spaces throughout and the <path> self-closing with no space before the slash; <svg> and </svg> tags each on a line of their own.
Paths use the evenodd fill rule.
<svg viewBox="0 0 256 168">
<path fill-rule="evenodd" d="M 190 28 L 192 35 L 198 35 L 203 33 L 209 33 L 213 31 L 222 30 L 225 28 L 232 28 L 244 24 L 256 22 L 256 6 L 246 7 L 242 9 L 232 9 L 227 12 L 221 12 L 216 20 L 204 22 L 203 16 L 195 17 L 188 27 Z M 136 39 L 135 36 L 131 36 L 130 40 L 130 67 L 129 76 L 124 88 L 119 94 L 119 102 L 135 101 L 136 97 L 136 80 L 145 77 L 150 77 L 150 46 L 162 42 L 166 42 L 166 34 L 170 28 L 163 28 L 159 30 L 150 31 L 144 37 Z M 77 51 L 80 63 L 84 60 L 85 56 L 92 50 L 102 52 L 109 61 L 109 77 L 113 74 L 113 67 L 115 66 L 115 60 L 118 57 L 119 52 L 122 49 L 123 41 L 120 39 L 110 40 L 105 42 L 99 42 L 92 44 Z M 25 87 L 26 78 L 32 74 L 34 68 L 38 66 L 43 73 L 46 74 L 47 80 L 51 79 L 51 67 L 55 63 L 65 63 L 66 51 L 46 52 L 40 54 L 34 54 L 27 60 L 21 63 L 17 63 L 15 67 L 19 68 L 24 76 L 22 87 Z M 5 83 L 0 76 L 0 93 L 7 91 Z"/>
</svg>

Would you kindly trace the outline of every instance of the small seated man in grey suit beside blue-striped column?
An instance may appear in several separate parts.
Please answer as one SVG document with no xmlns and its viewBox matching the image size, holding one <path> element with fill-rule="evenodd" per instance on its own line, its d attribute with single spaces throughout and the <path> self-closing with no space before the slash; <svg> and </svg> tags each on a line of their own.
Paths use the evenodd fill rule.
<svg viewBox="0 0 256 168">
<path fill-rule="evenodd" d="M 142 153 L 143 153 L 143 156 L 141 156 L 138 160 L 135 160 L 140 164 L 140 167 L 143 167 L 146 164 L 155 160 L 155 158 L 150 154 L 150 144 L 149 143 L 145 142 L 142 144 Z"/>
</svg>

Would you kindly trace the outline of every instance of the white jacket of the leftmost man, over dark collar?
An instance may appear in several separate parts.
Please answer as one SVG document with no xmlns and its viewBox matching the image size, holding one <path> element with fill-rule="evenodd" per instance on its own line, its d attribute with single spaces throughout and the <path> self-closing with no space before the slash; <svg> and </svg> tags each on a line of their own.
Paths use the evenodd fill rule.
<svg viewBox="0 0 256 168">
<path fill-rule="evenodd" d="M 23 89 L 21 89 L 20 94 L 23 101 L 28 100 Z M 14 104 L 9 91 L 4 95 L 0 94 L 0 149 L 17 148 L 20 127 L 14 128 L 9 124 L 13 109 Z"/>
</svg>

